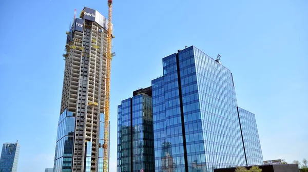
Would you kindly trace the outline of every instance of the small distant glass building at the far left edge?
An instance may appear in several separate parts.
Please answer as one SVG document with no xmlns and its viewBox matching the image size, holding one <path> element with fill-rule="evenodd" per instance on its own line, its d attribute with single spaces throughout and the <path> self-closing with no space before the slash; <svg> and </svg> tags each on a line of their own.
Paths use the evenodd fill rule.
<svg viewBox="0 0 308 172">
<path fill-rule="evenodd" d="M 2 147 L 0 159 L 1 172 L 16 172 L 18 157 L 20 152 L 20 145 L 16 143 L 4 143 Z"/>
</svg>

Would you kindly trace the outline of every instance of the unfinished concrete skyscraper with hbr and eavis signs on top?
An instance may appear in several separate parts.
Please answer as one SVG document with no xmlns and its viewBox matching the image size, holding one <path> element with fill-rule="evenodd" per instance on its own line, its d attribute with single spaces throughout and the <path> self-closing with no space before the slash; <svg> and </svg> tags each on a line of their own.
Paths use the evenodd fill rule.
<svg viewBox="0 0 308 172">
<path fill-rule="evenodd" d="M 103 171 L 107 27 L 103 15 L 85 7 L 66 32 L 54 172 Z"/>
</svg>

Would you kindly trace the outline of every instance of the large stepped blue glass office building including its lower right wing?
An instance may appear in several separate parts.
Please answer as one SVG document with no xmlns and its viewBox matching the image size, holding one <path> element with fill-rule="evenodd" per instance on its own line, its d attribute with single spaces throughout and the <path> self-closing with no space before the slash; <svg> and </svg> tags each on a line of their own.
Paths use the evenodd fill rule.
<svg viewBox="0 0 308 172">
<path fill-rule="evenodd" d="M 152 80 L 155 171 L 263 163 L 255 117 L 239 116 L 232 73 L 219 60 L 191 46 L 163 58 L 163 74 Z"/>
</svg>

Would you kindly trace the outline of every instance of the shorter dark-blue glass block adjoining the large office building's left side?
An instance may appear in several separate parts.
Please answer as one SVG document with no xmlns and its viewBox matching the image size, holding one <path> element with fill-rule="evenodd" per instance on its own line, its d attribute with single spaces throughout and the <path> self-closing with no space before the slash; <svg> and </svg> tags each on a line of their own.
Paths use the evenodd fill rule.
<svg viewBox="0 0 308 172">
<path fill-rule="evenodd" d="M 118 106 L 117 171 L 154 171 L 151 87 L 133 92 Z"/>
</svg>

